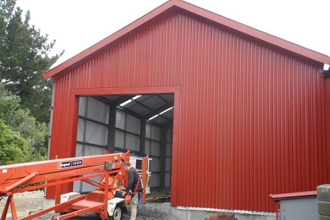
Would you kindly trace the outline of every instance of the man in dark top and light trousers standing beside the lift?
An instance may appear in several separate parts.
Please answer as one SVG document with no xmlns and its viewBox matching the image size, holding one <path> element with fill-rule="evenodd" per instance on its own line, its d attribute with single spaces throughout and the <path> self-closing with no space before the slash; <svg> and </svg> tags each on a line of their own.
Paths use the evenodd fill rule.
<svg viewBox="0 0 330 220">
<path fill-rule="evenodd" d="M 129 176 L 129 184 L 127 184 L 124 192 L 122 192 L 122 196 L 126 196 L 127 193 L 131 192 L 131 220 L 135 220 L 136 211 L 137 211 L 137 203 L 139 201 L 139 192 L 142 190 L 142 186 L 140 186 L 139 174 L 135 168 L 131 167 L 130 162 L 124 162 L 124 168 Z"/>
</svg>

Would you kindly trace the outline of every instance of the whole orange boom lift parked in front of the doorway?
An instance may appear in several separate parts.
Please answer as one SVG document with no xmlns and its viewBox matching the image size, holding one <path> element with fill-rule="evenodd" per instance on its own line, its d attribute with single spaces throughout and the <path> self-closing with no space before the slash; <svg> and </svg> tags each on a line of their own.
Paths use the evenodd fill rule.
<svg viewBox="0 0 330 220">
<path fill-rule="evenodd" d="M 125 198 L 116 197 L 116 195 L 121 195 L 121 192 L 117 192 L 117 190 L 124 188 L 128 183 L 123 163 L 129 161 L 129 156 L 130 152 L 127 151 L 127 153 L 72 157 L 0 166 L 0 199 L 8 197 L 1 220 L 5 220 L 9 206 L 12 211 L 12 219 L 18 220 L 14 193 L 36 190 L 47 186 L 56 186 L 56 205 L 29 214 L 20 220 L 34 219 L 51 211 L 61 213 L 61 216 L 56 217 L 56 219 L 69 219 L 87 212 L 95 212 L 99 214 L 101 219 L 120 220 L 122 219 L 122 213 L 127 212 L 126 203 L 129 203 L 131 199 L 130 195 Z M 140 176 L 142 176 L 144 188 L 146 187 L 147 162 L 148 156 L 142 158 L 142 173 L 140 173 Z M 101 180 L 96 183 L 89 180 L 92 177 L 101 177 Z M 78 180 L 96 186 L 96 190 L 89 192 L 87 195 L 80 195 L 78 192 L 61 195 L 61 184 Z M 46 183 L 43 183 L 45 181 Z M 19 186 L 36 183 L 43 184 L 16 189 Z M 146 190 L 143 192 L 144 202 L 146 201 L 145 194 Z M 52 219 L 55 219 L 55 217 Z"/>
</svg>

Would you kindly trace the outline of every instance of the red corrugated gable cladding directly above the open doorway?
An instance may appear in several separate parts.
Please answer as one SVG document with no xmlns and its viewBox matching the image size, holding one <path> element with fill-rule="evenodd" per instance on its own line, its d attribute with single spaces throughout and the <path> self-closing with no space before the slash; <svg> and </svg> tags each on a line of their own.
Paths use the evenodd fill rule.
<svg viewBox="0 0 330 220">
<path fill-rule="evenodd" d="M 171 64 L 176 58 L 175 36 L 164 34 L 166 30 L 173 29 L 173 25 L 175 23 L 168 23 L 166 19 L 85 63 L 72 73 L 74 87 L 95 89 L 179 85 L 181 72 Z M 173 39 L 171 43 L 166 43 L 168 37 Z"/>
</svg>

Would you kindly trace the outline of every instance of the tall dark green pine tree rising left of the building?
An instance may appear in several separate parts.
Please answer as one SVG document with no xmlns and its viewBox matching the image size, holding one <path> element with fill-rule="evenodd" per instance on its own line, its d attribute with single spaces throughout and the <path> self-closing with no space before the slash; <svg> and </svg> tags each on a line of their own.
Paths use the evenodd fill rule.
<svg viewBox="0 0 330 220">
<path fill-rule="evenodd" d="M 52 85 L 43 73 L 64 51 L 50 56 L 56 41 L 48 43 L 48 35 L 29 24 L 30 11 L 23 21 L 23 11 L 15 5 L 16 0 L 0 1 L 0 82 L 21 97 L 22 107 L 37 121 L 49 122 Z"/>
</svg>

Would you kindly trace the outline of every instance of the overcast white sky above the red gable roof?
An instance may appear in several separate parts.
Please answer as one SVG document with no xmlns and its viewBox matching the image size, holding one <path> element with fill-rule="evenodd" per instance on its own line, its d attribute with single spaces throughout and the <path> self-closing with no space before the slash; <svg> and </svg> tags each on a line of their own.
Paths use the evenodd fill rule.
<svg viewBox="0 0 330 220">
<path fill-rule="evenodd" d="M 124 28 L 166 0 L 17 0 L 42 34 L 56 39 L 58 63 Z M 329 0 L 188 0 L 206 10 L 330 56 Z"/>
</svg>

